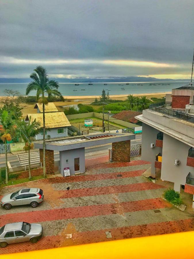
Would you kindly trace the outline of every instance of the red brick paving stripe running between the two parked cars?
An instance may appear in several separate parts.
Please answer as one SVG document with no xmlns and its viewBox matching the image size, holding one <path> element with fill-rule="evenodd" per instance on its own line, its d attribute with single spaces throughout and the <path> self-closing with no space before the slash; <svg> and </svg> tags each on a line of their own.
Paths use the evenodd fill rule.
<svg viewBox="0 0 194 259">
<path fill-rule="evenodd" d="M 25 212 L 25 214 L 23 212 L 5 214 L 3 216 L 0 216 L 0 222 L 1 226 L 3 226 L 11 222 L 24 221 L 35 223 L 40 221 L 62 220 L 70 218 L 86 218 L 110 214 L 124 214 L 125 212 L 154 210 L 165 207 L 171 207 L 170 203 L 167 203 L 161 198 L 156 198 L 121 203 L 90 205 L 53 210 L 41 210 Z"/>
</svg>

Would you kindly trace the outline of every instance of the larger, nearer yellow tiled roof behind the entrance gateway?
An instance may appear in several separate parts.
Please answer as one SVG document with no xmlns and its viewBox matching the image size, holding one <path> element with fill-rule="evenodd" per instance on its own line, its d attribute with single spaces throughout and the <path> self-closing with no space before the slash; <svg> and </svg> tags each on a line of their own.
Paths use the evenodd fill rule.
<svg viewBox="0 0 194 259">
<path fill-rule="evenodd" d="M 39 121 L 41 127 L 43 127 L 43 113 L 32 113 L 26 116 L 26 121 L 29 120 L 31 116 L 31 121 Z M 45 113 L 45 127 L 47 128 L 57 128 L 57 127 L 67 127 L 71 126 L 64 112 L 58 113 Z"/>
</svg>

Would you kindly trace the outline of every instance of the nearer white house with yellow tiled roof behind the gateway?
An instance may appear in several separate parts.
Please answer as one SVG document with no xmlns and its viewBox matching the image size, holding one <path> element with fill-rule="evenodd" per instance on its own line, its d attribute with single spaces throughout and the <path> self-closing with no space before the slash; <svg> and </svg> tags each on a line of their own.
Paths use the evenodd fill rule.
<svg viewBox="0 0 194 259">
<path fill-rule="evenodd" d="M 26 121 L 29 121 L 29 118 L 32 120 L 36 119 L 41 123 L 43 127 L 43 113 L 32 113 L 26 116 Z M 46 138 L 60 138 L 68 136 L 67 127 L 71 126 L 64 112 L 47 112 L 45 113 L 45 135 Z M 38 134 L 36 140 L 43 139 L 43 132 Z"/>
</svg>

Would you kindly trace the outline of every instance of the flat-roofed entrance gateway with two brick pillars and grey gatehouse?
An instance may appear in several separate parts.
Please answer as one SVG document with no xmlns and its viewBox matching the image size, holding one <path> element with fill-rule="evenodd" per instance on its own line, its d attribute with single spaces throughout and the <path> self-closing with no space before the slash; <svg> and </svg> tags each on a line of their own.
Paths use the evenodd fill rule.
<svg viewBox="0 0 194 259">
<path fill-rule="evenodd" d="M 95 133 L 76 137 L 45 140 L 45 160 L 47 174 L 55 174 L 54 150 L 59 151 L 60 173 L 65 176 L 64 168 L 69 168 L 70 175 L 85 172 L 85 148 L 112 143 L 112 161 L 130 162 L 130 140 L 135 134 Z M 40 150 L 43 164 L 43 141 L 35 141 L 34 148 Z M 107 148 L 108 150 L 108 148 Z"/>
</svg>

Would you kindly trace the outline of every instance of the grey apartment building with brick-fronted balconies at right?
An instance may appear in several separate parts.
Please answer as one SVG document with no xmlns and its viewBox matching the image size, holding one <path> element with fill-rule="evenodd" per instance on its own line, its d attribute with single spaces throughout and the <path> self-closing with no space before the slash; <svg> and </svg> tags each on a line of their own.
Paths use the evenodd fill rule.
<svg viewBox="0 0 194 259">
<path fill-rule="evenodd" d="M 136 118 L 142 121 L 141 155 L 142 160 L 151 162 L 151 176 L 155 178 L 156 168 L 159 168 L 161 179 L 174 182 L 175 191 L 180 192 L 180 186 L 184 185 L 185 192 L 194 195 L 194 116 L 179 111 L 183 108 L 183 101 L 178 95 L 181 90 L 185 100 L 185 94 L 190 94 L 184 101 L 186 106 L 188 100 L 193 100 L 193 85 L 190 87 L 179 87 L 178 92 L 173 89 L 172 105 L 174 101 L 177 111 L 165 103 L 152 104 Z"/>
</svg>

